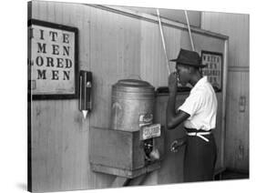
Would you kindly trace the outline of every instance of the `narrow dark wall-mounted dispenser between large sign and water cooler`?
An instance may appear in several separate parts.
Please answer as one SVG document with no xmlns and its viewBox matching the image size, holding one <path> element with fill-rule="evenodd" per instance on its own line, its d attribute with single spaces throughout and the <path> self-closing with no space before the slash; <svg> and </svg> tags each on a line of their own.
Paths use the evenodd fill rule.
<svg viewBox="0 0 256 193">
<path fill-rule="evenodd" d="M 89 112 L 92 109 L 92 72 L 81 70 L 79 73 L 79 110 Z"/>
</svg>

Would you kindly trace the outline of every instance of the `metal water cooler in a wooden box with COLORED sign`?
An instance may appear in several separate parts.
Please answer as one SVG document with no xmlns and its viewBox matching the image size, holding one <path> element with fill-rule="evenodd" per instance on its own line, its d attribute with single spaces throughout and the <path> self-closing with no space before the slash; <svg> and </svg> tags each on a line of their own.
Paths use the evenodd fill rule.
<svg viewBox="0 0 256 193">
<path fill-rule="evenodd" d="M 112 86 L 110 127 L 90 130 L 90 165 L 96 172 L 136 178 L 160 168 L 163 127 L 154 123 L 155 88 L 135 79 Z"/>
</svg>

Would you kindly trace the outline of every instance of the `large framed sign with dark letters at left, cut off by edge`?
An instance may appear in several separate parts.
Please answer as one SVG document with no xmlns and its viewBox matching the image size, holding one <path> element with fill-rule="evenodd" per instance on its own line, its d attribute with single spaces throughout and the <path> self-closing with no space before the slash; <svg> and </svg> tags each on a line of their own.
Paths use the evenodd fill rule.
<svg viewBox="0 0 256 193">
<path fill-rule="evenodd" d="M 33 99 L 78 96 L 78 29 L 28 21 L 28 94 Z"/>
</svg>

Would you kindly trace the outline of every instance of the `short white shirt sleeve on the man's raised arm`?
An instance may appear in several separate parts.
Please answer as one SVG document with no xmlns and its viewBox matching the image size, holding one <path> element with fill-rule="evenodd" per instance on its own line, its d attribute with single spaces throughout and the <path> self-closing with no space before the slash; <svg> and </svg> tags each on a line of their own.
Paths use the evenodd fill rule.
<svg viewBox="0 0 256 193">
<path fill-rule="evenodd" d="M 182 110 L 188 113 L 190 117 L 193 117 L 200 110 L 200 107 L 202 107 L 203 98 L 201 92 L 190 94 L 178 110 Z"/>
</svg>

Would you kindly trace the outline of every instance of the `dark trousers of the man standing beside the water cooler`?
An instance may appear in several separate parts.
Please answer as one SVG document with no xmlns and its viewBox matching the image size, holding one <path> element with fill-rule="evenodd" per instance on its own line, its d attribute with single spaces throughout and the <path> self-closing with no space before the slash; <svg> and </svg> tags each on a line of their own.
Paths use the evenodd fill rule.
<svg viewBox="0 0 256 193">
<path fill-rule="evenodd" d="M 217 147 L 213 134 L 204 137 L 209 142 L 196 136 L 187 137 L 184 156 L 185 182 L 213 180 Z"/>
</svg>

